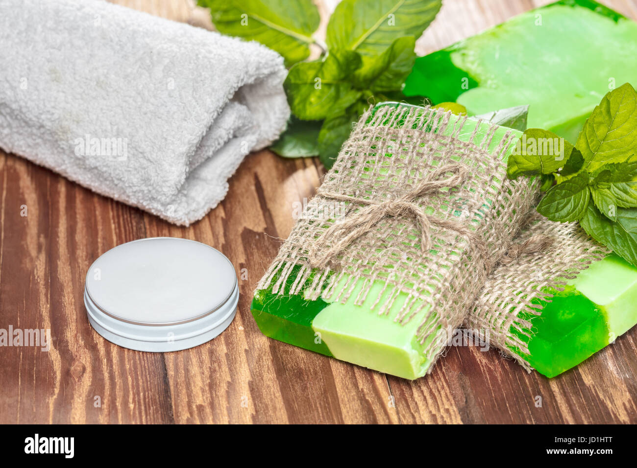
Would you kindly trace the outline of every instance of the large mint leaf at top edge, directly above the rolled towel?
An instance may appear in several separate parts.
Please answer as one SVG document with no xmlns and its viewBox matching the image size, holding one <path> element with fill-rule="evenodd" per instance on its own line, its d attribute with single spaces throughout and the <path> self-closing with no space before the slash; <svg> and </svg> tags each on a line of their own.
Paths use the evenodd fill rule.
<svg viewBox="0 0 637 468">
<path fill-rule="evenodd" d="M 311 0 L 199 0 L 217 31 L 259 41 L 283 55 L 289 67 L 310 55 L 320 17 Z"/>
</svg>

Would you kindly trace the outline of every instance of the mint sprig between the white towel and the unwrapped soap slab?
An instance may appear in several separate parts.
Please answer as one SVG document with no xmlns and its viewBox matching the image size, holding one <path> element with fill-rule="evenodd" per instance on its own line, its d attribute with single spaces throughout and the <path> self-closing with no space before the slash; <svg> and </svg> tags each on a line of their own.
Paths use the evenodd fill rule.
<svg viewBox="0 0 637 468">
<path fill-rule="evenodd" d="M 415 40 L 431 24 L 441 0 L 343 0 L 327 24 L 326 41 L 314 37 L 312 0 L 198 0 L 209 7 L 217 31 L 256 40 L 280 53 L 292 118 L 271 146 L 283 157 L 318 155 L 327 168 L 370 104 L 424 96 L 402 89 L 416 59 Z M 310 46 L 322 50 L 306 62 Z"/>
</svg>

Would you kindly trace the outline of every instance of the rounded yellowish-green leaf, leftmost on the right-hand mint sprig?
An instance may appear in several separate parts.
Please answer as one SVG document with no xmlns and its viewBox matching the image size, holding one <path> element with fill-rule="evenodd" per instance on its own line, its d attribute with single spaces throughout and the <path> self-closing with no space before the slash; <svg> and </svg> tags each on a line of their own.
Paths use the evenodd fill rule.
<svg viewBox="0 0 637 468">
<path fill-rule="evenodd" d="M 527 129 L 508 159 L 506 174 L 515 179 L 521 175 L 554 173 L 568 162 L 574 148 L 553 132 Z"/>
</svg>

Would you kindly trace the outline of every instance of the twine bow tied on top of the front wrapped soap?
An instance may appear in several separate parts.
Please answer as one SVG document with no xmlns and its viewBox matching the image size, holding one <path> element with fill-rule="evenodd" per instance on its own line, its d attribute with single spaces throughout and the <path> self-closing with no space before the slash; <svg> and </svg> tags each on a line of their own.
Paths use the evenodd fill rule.
<svg viewBox="0 0 637 468">
<path fill-rule="evenodd" d="M 452 175 L 447 178 L 442 178 L 447 173 L 451 173 Z M 478 248 L 482 254 L 482 259 L 485 262 L 488 273 L 491 269 L 491 265 L 488 261 L 487 245 L 480 236 L 476 235 L 475 232 L 459 221 L 445 220 L 436 216 L 427 215 L 417 203 L 419 199 L 422 201 L 424 197 L 438 195 L 443 188 L 452 190 L 453 188 L 461 187 L 468 178 L 469 172 L 466 167 L 462 167 L 460 164 L 447 164 L 428 173 L 412 190 L 408 190 L 399 197 L 383 201 L 338 194 L 319 188 L 317 194 L 322 197 L 365 206 L 365 208 L 355 213 L 350 212 L 340 222 L 334 223 L 329 229 L 323 232 L 315 243 L 310 246 L 308 250 L 308 261 L 313 267 L 326 267 L 334 257 L 343 252 L 355 239 L 358 239 L 371 230 L 380 220 L 386 216 L 396 216 L 415 219 L 420 229 L 420 250 L 422 252 L 427 252 L 431 249 L 431 225 L 436 225 L 442 229 L 454 230 L 459 236 L 467 239 L 469 243 L 472 243 Z M 339 238 L 339 232 L 348 232 L 348 234 Z M 333 241 L 329 248 L 326 248 L 326 244 L 331 239 L 336 240 Z"/>
</svg>

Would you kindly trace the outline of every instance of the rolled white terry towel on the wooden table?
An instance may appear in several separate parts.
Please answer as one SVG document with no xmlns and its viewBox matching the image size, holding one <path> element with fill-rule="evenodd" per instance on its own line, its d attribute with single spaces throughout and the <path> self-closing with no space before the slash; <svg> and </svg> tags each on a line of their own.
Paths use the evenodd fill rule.
<svg viewBox="0 0 637 468">
<path fill-rule="evenodd" d="M 289 117 L 282 58 L 98 0 L 0 2 L 0 147 L 177 224 Z"/>
</svg>

